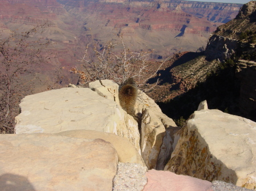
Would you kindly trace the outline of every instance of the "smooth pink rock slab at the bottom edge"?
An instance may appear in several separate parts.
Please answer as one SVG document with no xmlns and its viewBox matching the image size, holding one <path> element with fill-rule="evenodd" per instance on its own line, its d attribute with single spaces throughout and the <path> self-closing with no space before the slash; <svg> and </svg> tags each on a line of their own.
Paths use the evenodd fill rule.
<svg viewBox="0 0 256 191">
<path fill-rule="evenodd" d="M 213 191 L 212 182 L 191 176 L 176 175 L 170 171 L 151 169 L 146 176 L 147 184 L 143 191 Z"/>
</svg>

